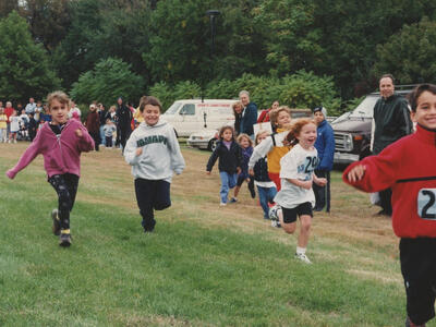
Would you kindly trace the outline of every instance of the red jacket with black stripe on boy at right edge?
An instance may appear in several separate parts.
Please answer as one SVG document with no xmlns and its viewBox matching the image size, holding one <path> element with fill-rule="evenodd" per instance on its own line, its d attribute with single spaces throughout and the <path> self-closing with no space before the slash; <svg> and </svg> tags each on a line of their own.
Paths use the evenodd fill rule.
<svg viewBox="0 0 436 327">
<path fill-rule="evenodd" d="M 366 166 L 366 172 L 361 181 L 351 183 L 347 174 L 359 164 Z M 342 178 L 346 183 L 365 192 L 392 189 L 392 227 L 397 237 L 436 238 L 435 131 L 417 125 L 414 134 L 392 143 L 378 156 L 350 165 Z M 433 191 L 424 191 L 419 205 L 420 190 L 423 189 Z"/>
</svg>

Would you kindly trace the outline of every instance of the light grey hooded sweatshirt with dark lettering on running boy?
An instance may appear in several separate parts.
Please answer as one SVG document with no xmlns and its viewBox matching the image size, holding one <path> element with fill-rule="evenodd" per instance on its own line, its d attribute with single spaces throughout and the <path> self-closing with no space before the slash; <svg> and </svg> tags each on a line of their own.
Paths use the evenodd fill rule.
<svg viewBox="0 0 436 327">
<path fill-rule="evenodd" d="M 136 156 L 138 147 L 143 153 Z M 153 126 L 143 122 L 133 131 L 125 144 L 124 159 L 132 166 L 135 179 L 171 182 L 172 172 L 179 174 L 185 166 L 174 129 L 162 120 Z"/>
</svg>

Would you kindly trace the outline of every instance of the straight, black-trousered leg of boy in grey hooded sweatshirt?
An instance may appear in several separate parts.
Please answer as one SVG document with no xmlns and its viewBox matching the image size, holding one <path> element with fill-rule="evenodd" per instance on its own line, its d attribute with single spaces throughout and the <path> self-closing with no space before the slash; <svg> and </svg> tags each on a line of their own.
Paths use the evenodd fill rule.
<svg viewBox="0 0 436 327">
<path fill-rule="evenodd" d="M 143 218 L 142 226 L 144 231 L 153 230 L 156 225 L 153 211 L 154 187 L 153 181 L 135 179 L 136 203 Z"/>
</svg>

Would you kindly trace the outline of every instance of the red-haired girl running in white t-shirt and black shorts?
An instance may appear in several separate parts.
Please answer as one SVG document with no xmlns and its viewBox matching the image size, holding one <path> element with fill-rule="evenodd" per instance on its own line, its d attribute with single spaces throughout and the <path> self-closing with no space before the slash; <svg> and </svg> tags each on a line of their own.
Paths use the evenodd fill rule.
<svg viewBox="0 0 436 327">
<path fill-rule="evenodd" d="M 315 206 L 315 195 L 312 183 L 325 185 L 326 179 L 314 173 L 318 165 L 316 148 L 316 124 L 311 119 L 299 119 L 292 124 L 287 140 L 294 145 L 280 160 L 280 179 L 282 189 L 274 201 L 271 219 L 279 219 L 284 232 L 292 234 L 296 229 L 296 217 L 300 218 L 300 234 L 298 238 L 295 258 L 306 264 L 306 247 L 312 225 L 312 208 Z"/>
</svg>

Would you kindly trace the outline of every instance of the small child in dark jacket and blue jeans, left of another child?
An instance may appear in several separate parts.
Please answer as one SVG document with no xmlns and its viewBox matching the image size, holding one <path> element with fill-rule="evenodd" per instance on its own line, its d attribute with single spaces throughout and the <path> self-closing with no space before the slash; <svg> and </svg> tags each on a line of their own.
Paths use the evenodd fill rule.
<svg viewBox="0 0 436 327">
<path fill-rule="evenodd" d="M 237 185 L 237 175 L 241 172 L 242 167 L 242 149 L 234 141 L 234 129 L 232 126 L 223 126 L 219 131 L 220 141 L 210 155 L 207 162 L 206 171 L 210 174 L 211 168 L 219 158 L 218 170 L 221 179 L 220 205 L 227 205 L 229 190 Z"/>
</svg>

